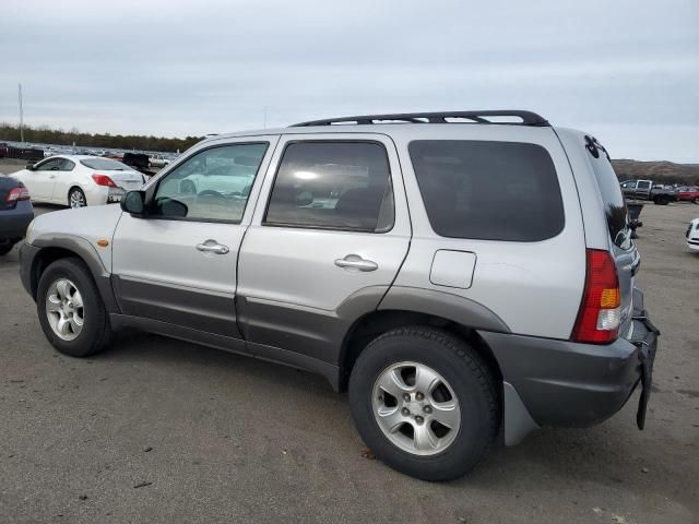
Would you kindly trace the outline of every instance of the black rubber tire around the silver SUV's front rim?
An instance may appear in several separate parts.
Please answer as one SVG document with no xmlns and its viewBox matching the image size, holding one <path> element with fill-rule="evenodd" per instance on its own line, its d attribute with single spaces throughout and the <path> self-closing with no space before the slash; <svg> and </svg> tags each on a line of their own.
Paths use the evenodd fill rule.
<svg viewBox="0 0 699 524">
<path fill-rule="evenodd" d="M 51 284 L 59 278 L 67 278 L 74 283 L 83 299 L 84 324 L 78 337 L 72 341 L 60 338 L 47 318 L 47 293 Z M 80 259 L 60 259 L 44 271 L 36 295 L 36 311 L 44 334 L 51 345 L 64 355 L 88 357 L 109 345 L 111 340 L 109 317 L 90 270 Z"/>
</svg>

